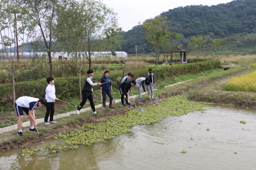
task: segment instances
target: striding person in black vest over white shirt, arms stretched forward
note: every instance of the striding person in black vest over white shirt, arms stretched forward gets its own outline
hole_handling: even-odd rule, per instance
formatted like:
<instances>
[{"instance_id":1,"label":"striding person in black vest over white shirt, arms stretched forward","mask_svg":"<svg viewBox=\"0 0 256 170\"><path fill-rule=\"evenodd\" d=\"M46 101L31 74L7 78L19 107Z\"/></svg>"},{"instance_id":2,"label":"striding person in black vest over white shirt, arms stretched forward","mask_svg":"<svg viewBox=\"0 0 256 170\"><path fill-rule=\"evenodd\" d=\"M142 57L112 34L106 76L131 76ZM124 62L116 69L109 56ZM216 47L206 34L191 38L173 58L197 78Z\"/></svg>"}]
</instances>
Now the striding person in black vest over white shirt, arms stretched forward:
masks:
<instances>
[{"instance_id":1,"label":"striding person in black vest over white shirt, arms stretched forward","mask_svg":"<svg viewBox=\"0 0 256 170\"><path fill-rule=\"evenodd\" d=\"M94 85L101 85L101 83L93 83L93 70L89 69L87 71L87 74L89 75L84 82L84 87L83 87L83 91L82 91L82 102L80 103L79 106L77 106L76 109L76 114L80 114L79 111L81 110L81 108L84 106L85 102L87 101L87 99L90 102L91 108L93 110L93 114L96 114L96 110L95 110L95 105L93 102L93 86Z\"/></svg>"}]
</instances>

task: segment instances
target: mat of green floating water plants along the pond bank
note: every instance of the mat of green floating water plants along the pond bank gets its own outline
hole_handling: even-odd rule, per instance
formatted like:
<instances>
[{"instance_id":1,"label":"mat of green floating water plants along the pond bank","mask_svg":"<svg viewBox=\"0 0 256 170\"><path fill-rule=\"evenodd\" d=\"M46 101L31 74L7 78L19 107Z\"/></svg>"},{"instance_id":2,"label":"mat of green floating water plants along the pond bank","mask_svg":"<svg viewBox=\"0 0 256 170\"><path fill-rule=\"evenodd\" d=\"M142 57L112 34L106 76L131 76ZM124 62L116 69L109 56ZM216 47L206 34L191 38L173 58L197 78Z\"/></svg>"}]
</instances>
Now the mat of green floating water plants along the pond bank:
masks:
<instances>
[{"instance_id":1,"label":"mat of green floating water plants along the pond bank","mask_svg":"<svg viewBox=\"0 0 256 170\"><path fill-rule=\"evenodd\" d=\"M60 134L54 137L54 139L63 138L66 139L62 145L69 145L57 147L55 145L44 145L44 148L49 147L52 149L52 153L59 152L61 150L76 149L78 144L91 145L97 142L106 142L107 139L113 139L115 136L127 133L131 127L137 125L147 125L150 123L157 123L165 119L166 116L181 116L193 111L204 111L203 107L209 107L211 103L191 102L188 101L186 96L174 96L165 99L157 106L145 106L142 110L131 109L125 111L124 116L113 116L109 119L104 119L99 123L90 123L78 127L81 131L68 131L64 134ZM71 145L71 146L70 146ZM33 150L33 149L31 149ZM31 153L44 154L45 149L41 150L23 150L24 156L29 156Z\"/></svg>"}]
</instances>

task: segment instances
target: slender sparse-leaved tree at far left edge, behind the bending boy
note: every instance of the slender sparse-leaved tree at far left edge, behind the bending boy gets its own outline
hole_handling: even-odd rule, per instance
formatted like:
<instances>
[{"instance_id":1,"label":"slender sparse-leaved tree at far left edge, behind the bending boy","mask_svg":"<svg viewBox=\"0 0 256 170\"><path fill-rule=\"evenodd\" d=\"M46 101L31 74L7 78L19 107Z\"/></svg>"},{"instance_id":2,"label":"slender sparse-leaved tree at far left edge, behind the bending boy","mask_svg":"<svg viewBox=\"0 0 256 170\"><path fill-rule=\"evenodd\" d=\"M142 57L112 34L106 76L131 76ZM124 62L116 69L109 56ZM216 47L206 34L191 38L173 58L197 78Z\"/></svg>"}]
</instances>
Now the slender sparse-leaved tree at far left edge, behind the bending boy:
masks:
<instances>
[{"instance_id":1,"label":"slender sparse-leaved tree at far left edge, behind the bending boy","mask_svg":"<svg viewBox=\"0 0 256 170\"><path fill-rule=\"evenodd\" d=\"M19 48L23 49L24 45L24 35L31 31L34 27L34 23L29 22L29 19L24 16L26 9L20 9L17 6L12 5L9 1L2 1L0 6L0 36L2 45L0 62L2 62L3 67L6 72L12 77L12 95L13 95L13 109L15 110L15 77L18 77L21 73L25 71L31 71L35 69L40 61L34 68L26 69L21 68L20 65L23 60L23 50L22 55L19 58ZM19 37L19 39L18 39ZM18 45L18 41L23 42L23 45ZM15 46L14 55L12 55L11 47ZM8 51L10 47L10 53Z\"/></svg>"}]
</instances>

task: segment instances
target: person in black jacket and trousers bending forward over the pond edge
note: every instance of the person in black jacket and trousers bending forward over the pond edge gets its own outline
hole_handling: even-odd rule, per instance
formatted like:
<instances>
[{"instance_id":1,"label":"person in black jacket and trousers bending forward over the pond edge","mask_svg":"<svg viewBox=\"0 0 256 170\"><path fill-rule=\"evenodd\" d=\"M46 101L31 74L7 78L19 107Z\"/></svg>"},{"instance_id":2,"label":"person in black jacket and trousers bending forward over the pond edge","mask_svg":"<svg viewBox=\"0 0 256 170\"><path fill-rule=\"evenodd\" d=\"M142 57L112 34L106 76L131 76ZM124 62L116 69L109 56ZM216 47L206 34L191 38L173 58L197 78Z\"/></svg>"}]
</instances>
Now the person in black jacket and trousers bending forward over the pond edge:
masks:
<instances>
[{"instance_id":1,"label":"person in black jacket and trousers bending forward over the pond edge","mask_svg":"<svg viewBox=\"0 0 256 170\"><path fill-rule=\"evenodd\" d=\"M128 106L131 106L128 102L128 91L131 87L136 85L136 80L124 81L119 85L119 91L121 94L121 102L123 107L125 107L125 101ZM125 100L125 101L124 101Z\"/></svg>"}]
</instances>

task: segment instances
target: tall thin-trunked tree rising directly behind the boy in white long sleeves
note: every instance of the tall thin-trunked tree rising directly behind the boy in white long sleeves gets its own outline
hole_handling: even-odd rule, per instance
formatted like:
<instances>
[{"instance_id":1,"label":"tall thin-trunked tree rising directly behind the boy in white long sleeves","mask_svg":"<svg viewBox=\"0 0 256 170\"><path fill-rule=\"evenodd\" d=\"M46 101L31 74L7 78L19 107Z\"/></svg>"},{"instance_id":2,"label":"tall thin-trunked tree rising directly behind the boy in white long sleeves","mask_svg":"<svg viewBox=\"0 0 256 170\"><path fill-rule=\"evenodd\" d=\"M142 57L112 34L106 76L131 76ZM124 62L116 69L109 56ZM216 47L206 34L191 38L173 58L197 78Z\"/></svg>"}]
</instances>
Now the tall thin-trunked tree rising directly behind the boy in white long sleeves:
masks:
<instances>
[{"instance_id":1,"label":"tall thin-trunked tree rising directly behind the boy in white long sleeves","mask_svg":"<svg viewBox=\"0 0 256 170\"><path fill-rule=\"evenodd\" d=\"M52 52L58 48L58 42L52 29L58 17L58 8L68 6L72 0L12 0L21 9L26 9L26 14L31 22L36 23L35 30L30 34L34 52L46 52L49 59L49 76L52 74Z\"/></svg>"}]
</instances>

